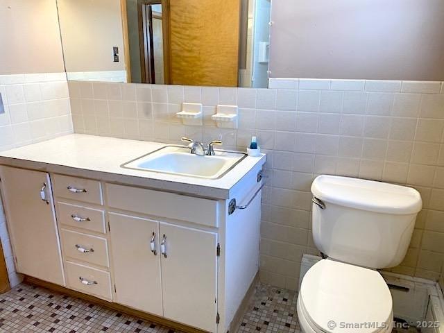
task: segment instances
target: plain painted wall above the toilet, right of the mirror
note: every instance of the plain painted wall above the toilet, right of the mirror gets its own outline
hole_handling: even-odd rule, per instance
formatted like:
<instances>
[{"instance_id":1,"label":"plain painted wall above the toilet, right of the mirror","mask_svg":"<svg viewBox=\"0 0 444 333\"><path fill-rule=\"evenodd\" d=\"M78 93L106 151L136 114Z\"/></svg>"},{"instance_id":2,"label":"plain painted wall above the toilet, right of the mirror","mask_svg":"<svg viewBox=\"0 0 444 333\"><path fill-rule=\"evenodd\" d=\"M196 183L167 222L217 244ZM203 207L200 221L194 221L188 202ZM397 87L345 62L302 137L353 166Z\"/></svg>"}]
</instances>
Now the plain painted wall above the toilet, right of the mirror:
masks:
<instances>
[{"instance_id":1,"label":"plain painted wall above the toilet, right of the mirror","mask_svg":"<svg viewBox=\"0 0 444 333\"><path fill-rule=\"evenodd\" d=\"M271 77L444 79L442 0L273 0Z\"/></svg>"}]
</instances>

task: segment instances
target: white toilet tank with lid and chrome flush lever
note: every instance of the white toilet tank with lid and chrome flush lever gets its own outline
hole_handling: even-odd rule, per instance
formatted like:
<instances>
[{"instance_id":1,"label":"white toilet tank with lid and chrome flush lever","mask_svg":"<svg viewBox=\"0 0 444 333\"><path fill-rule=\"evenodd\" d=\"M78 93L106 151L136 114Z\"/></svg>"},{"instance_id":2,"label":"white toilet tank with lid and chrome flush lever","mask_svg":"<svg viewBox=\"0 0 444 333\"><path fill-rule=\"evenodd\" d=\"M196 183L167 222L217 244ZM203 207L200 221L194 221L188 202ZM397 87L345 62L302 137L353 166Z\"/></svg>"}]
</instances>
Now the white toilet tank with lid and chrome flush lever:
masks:
<instances>
[{"instance_id":1,"label":"white toilet tank with lid and chrome flush lever","mask_svg":"<svg viewBox=\"0 0 444 333\"><path fill-rule=\"evenodd\" d=\"M368 268L402 262L422 207L416 189L323 175L314 180L311 194L313 239L322 253Z\"/></svg>"}]
</instances>

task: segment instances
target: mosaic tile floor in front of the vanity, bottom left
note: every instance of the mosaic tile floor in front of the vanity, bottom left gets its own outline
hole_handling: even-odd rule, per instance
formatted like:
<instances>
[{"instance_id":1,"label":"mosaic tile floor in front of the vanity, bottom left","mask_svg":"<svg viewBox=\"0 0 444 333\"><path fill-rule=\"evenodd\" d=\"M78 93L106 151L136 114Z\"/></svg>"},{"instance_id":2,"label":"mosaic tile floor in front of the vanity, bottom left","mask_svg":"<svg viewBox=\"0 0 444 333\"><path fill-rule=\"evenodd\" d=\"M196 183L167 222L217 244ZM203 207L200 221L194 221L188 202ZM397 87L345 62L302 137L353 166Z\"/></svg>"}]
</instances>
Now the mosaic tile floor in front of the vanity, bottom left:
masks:
<instances>
[{"instance_id":1,"label":"mosaic tile floor in front of the vanity, bottom left","mask_svg":"<svg viewBox=\"0 0 444 333\"><path fill-rule=\"evenodd\" d=\"M180 333L27 284L0 295L0 332Z\"/></svg>"}]
</instances>

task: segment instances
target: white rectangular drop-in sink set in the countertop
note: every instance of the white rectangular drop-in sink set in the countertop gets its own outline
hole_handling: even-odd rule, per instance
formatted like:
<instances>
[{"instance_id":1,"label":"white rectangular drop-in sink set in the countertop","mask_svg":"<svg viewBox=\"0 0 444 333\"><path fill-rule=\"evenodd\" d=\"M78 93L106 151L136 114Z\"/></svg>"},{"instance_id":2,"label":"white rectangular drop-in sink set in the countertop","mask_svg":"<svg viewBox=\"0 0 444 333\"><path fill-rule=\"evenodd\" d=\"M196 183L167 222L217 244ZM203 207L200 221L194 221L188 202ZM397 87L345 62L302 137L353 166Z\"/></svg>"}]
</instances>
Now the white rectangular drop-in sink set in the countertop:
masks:
<instances>
[{"instance_id":1,"label":"white rectangular drop-in sink set in the countertop","mask_svg":"<svg viewBox=\"0 0 444 333\"><path fill-rule=\"evenodd\" d=\"M122 164L121 167L216 179L221 178L246 157L244 153L214 152L216 155L213 156L199 156L190 154L189 148L184 146L165 146L153 153Z\"/></svg>"}]
</instances>

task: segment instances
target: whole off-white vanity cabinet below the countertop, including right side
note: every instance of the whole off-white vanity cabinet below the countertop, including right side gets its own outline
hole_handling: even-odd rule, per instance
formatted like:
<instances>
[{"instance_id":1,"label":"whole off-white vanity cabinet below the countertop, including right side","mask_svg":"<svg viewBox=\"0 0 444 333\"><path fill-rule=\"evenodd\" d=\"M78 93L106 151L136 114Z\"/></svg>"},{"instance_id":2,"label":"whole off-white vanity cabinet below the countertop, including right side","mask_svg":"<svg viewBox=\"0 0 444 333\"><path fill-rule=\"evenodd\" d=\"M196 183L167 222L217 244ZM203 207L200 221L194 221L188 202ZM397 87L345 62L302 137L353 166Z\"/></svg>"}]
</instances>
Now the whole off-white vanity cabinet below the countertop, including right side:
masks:
<instances>
[{"instance_id":1,"label":"whole off-white vanity cabinet below the countertop, including right side","mask_svg":"<svg viewBox=\"0 0 444 333\"><path fill-rule=\"evenodd\" d=\"M0 167L17 271L225 333L258 270L261 169L208 198Z\"/></svg>"}]
</instances>

